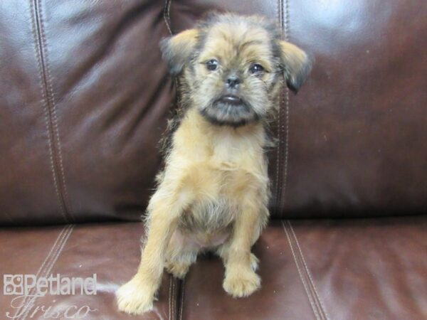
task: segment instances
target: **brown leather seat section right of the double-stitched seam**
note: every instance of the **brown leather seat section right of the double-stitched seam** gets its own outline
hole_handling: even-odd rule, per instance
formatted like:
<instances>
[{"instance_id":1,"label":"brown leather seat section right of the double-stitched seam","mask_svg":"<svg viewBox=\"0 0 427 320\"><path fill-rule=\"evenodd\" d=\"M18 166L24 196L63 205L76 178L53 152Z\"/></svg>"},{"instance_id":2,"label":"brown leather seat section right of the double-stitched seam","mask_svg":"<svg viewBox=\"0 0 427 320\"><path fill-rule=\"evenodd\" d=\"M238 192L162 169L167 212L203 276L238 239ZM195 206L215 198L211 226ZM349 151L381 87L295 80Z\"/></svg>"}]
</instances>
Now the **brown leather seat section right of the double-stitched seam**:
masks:
<instances>
[{"instance_id":1,"label":"brown leather seat section right of the double-stitched seam","mask_svg":"<svg viewBox=\"0 0 427 320\"><path fill-rule=\"evenodd\" d=\"M427 318L427 216L285 225L331 319Z\"/></svg>"}]
</instances>

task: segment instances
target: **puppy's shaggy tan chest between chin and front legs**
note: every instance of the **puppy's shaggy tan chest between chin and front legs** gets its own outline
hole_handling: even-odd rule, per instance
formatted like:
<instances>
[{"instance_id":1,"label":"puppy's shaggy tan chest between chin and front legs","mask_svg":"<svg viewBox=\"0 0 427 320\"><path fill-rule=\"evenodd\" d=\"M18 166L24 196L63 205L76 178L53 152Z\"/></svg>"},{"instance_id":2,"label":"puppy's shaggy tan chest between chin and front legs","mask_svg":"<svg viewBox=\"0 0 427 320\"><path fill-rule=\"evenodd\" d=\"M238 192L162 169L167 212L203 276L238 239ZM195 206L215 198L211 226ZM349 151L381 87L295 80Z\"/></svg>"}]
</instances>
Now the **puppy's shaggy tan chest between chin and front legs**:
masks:
<instances>
[{"instance_id":1,"label":"puppy's shaggy tan chest between chin and front legs","mask_svg":"<svg viewBox=\"0 0 427 320\"><path fill-rule=\"evenodd\" d=\"M174 167L189 199L179 227L209 247L228 237L242 202L264 183L263 139L226 128L201 134L195 127L181 127L175 141Z\"/></svg>"}]
</instances>

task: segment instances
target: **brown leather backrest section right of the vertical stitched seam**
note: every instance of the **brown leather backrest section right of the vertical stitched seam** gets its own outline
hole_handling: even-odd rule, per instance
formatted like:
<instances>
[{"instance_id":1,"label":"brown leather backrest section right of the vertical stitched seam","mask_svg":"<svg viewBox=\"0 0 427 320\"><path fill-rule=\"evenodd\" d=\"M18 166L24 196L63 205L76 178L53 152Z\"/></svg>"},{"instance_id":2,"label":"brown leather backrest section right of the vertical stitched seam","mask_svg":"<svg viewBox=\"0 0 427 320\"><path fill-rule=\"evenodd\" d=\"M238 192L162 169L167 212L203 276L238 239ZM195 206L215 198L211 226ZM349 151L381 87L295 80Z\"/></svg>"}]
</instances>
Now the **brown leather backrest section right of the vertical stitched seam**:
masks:
<instances>
[{"instance_id":1,"label":"brown leather backrest section right of the vertical stitched seam","mask_svg":"<svg viewBox=\"0 0 427 320\"><path fill-rule=\"evenodd\" d=\"M288 7L290 41L316 62L300 95L290 95L280 212L426 213L426 2Z\"/></svg>"}]
</instances>

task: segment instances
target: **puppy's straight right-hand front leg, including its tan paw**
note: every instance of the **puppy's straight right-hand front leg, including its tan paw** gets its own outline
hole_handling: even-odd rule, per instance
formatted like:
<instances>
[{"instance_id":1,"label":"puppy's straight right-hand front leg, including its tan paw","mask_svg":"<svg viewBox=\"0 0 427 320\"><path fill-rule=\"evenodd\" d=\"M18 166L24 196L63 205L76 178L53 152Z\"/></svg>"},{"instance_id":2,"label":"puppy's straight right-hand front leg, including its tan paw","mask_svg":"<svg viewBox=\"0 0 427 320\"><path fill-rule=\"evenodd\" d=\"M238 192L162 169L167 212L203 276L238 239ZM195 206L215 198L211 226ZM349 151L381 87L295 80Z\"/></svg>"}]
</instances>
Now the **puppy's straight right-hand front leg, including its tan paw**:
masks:
<instances>
[{"instance_id":1,"label":"puppy's straight right-hand front leg, including its tan paw","mask_svg":"<svg viewBox=\"0 0 427 320\"><path fill-rule=\"evenodd\" d=\"M258 259L251 247L262 229L261 212L251 201L243 203L231 239L220 253L226 267L223 288L233 297L247 297L260 288L260 277L255 273Z\"/></svg>"}]
</instances>

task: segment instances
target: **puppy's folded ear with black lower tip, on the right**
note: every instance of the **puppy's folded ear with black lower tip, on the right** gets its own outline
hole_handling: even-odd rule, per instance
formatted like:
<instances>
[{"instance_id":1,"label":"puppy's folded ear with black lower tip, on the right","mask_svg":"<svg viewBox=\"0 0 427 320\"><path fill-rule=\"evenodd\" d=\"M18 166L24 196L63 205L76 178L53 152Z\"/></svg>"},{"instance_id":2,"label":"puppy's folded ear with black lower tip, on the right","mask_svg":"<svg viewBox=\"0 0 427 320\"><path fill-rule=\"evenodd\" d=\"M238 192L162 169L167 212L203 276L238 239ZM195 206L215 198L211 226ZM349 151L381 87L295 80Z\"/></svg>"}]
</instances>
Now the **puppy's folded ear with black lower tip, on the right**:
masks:
<instances>
[{"instance_id":1,"label":"puppy's folded ear with black lower tip, on the right","mask_svg":"<svg viewBox=\"0 0 427 320\"><path fill-rule=\"evenodd\" d=\"M286 41L279 41L280 63L285 73L286 84L297 93L312 68L312 60L307 53Z\"/></svg>"}]
</instances>

